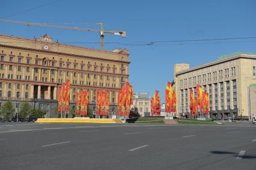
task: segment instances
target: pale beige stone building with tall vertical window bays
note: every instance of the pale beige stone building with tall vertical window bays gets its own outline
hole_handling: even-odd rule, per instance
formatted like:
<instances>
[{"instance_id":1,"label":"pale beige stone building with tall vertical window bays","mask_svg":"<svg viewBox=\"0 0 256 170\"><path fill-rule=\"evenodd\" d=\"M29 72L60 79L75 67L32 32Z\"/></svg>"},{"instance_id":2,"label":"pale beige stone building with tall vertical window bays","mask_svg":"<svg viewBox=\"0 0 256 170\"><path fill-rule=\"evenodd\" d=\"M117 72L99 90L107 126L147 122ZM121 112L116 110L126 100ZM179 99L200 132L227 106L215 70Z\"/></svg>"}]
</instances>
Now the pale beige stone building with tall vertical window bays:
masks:
<instances>
[{"instance_id":1,"label":"pale beige stone building with tall vertical window bays","mask_svg":"<svg viewBox=\"0 0 256 170\"><path fill-rule=\"evenodd\" d=\"M188 115L189 90L199 83L209 93L210 117L251 119L255 114L256 55L235 53L216 61L189 68L175 64L174 88L177 93L177 117ZM251 104L250 104L251 103Z\"/></svg>"}]
</instances>

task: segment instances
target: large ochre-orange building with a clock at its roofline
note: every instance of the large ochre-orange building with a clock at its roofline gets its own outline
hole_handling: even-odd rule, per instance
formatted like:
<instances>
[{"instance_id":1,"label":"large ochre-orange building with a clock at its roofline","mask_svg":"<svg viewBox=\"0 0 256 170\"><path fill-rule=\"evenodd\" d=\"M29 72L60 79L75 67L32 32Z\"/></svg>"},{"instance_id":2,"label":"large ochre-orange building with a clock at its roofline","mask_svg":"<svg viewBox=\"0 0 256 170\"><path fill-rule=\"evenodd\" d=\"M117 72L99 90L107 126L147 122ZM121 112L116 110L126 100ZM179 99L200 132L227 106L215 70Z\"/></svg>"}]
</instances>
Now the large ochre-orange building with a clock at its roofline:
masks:
<instances>
[{"instance_id":1,"label":"large ochre-orange building with a clock at its roofline","mask_svg":"<svg viewBox=\"0 0 256 170\"><path fill-rule=\"evenodd\" d=\"M49 35L28 39L0 35L0 103L8 100L19 108L29 102L46 117L56 117L58 87L70 80L70 109L76 92L89 91L95 111L97 90L109 91L111 115L117 111L117 91L129 77L129 51L89 49L54 42Z\"/></svg>"}]
</instances>

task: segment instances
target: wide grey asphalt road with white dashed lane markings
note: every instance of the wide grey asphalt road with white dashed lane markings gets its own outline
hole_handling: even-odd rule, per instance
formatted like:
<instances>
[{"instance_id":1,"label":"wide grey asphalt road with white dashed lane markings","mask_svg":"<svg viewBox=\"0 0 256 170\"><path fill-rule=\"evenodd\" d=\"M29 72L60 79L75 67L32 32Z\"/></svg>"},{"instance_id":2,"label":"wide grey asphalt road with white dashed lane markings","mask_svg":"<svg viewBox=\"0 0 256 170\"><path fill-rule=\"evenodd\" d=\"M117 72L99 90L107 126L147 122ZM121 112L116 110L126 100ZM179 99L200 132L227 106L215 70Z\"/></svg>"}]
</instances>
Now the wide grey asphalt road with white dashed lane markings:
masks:
<instances>
[{"instance_id":1,"label":"wide grey asphalt road with white dashed lane markings","mask_svg":"<svg viewBox=\"0 0 256 170\"><path fill-rule=\"evenodd\" d=\"M0 169L256 169L256 125L0 123Z\"/></svg>"}]
</instances>

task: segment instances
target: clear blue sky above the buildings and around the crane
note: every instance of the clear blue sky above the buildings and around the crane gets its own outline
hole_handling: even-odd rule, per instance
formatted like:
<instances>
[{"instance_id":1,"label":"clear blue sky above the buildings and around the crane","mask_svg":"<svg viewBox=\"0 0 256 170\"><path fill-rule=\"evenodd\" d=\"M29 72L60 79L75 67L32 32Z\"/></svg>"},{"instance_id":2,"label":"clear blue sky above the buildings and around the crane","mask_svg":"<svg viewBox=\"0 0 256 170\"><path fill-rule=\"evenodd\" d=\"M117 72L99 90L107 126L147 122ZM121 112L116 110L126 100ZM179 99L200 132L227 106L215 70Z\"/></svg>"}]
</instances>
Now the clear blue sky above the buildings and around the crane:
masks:
<instances>
[{"instance_id":1,"label":"clear blue sky above the buildings and around the crane","mask_svg":"<svg viewBox=\"0 0 256 170\"><path fill-rule=\"evenodd\" d=\"M53 3L52 3L53 2ZM1 1L0 18L40 23L76 23L67 26L127 31L127 37L106 35L106 42L144 44L151 41L200 40L256 37L256 1ZM87 24L81 24L87 23ZM45 33L59 42L99 42L97 32L26 27L0 22L0 34L34 38ZM167 81L173 78L173 65L186 62L190 67L214 61L234 52L256 52L256 38L156 43L153 46L105 44L105 49L130 50L130 78L135 91L151 96L160 91L164 102ZM99 44L77 44L98 48Z\"/></svg>"}]
</instances>

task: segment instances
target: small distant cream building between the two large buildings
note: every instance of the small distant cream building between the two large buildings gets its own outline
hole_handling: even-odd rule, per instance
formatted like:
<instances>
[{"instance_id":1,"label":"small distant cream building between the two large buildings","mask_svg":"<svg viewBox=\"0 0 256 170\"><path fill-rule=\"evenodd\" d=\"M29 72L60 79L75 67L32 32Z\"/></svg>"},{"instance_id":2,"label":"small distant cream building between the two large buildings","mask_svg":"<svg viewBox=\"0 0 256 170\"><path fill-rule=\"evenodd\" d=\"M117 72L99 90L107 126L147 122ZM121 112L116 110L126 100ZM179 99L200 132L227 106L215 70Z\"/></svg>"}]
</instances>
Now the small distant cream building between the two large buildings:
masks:
<instances>
[{"instance_id":1,"label":"small distant cream building between the two large buildings","mask_svg":"<svg viewBox=\"0 0 256 170\"><path fill-rule=\"evenodd\" d=\"M151 97L148 93L133 94L133 105L131 108L137 108L141 117L150 116Z\"/></svg>"}]
</instances>

